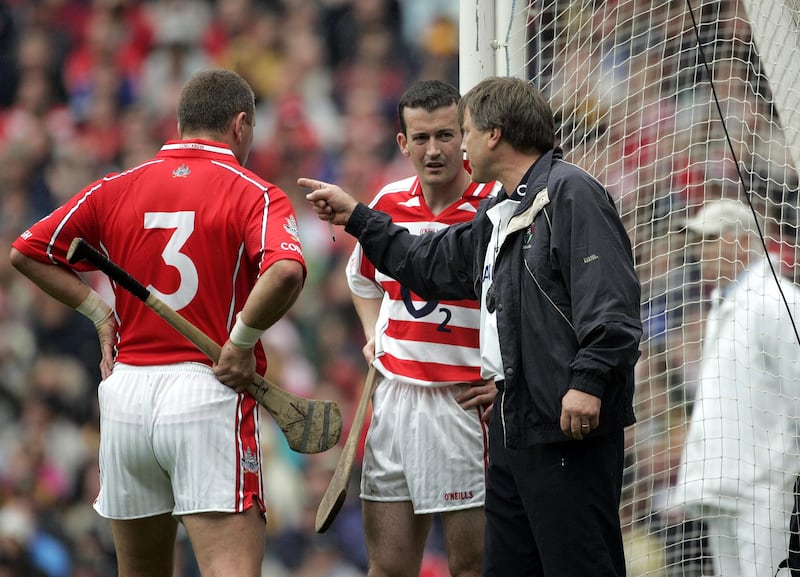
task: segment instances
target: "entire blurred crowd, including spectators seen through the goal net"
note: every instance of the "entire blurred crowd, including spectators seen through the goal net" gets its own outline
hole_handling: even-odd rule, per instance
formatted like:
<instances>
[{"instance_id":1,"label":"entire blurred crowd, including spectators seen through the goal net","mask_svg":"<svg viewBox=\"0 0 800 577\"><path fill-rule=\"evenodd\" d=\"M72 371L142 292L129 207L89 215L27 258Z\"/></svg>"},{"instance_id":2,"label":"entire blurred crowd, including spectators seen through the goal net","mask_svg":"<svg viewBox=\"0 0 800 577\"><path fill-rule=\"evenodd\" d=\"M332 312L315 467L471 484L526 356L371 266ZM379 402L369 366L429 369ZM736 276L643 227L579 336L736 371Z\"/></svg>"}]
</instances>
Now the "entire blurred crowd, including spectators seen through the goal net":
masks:
<instances>
[{"instance_id":1,"label":"entire blurred crowd, including spectators seen through the goal net","mask_svg":"<svg viewBox=\"0 0 800 577\"><path fill-rule=\"evenodd\" d=\"M549 74L562 90L548 91L569 128L562 130L568 158L609 187L634 241L647 332L623 515L626 530L644 527L636 547L649 547L656 532L650 524L659 524L652 554L664 557L653 562L661 567L668 563L664 544L696 530L676 523L664 502L702 321L702 295L673 228L702 198L738 191L709 91L697 88L698 56L690 52L695 60L685 61L686 13L680 19L670 13L683 3L662 4L663 19L630 19L627 45L589 57L554 51ZM716 4L711 19L721 24L703 31L733 55L749 42L742 19L725 13L738 4ZM192 73L210 66L236 70L257 97L248 167L293 200L309 265L300 300L264 337L267 377L297 394L337 400L347 426L366 374L343 272L354 241L341 230L331 238L295 181L335 182L369 201L382 183L410 175L395 143L396 103L417 78L458 86L457 22L458 2L450 0L0 0L2 244L8 247L93 179L136 165L174 138L177 95ZM595 29L602 36L603 27ZM677 39L671 48L655 38L660 33L662 40ZM764 89L753 78L752 60L737 61L718 68L716 80L727 87L726 111L738 122L740 158L766 201L770 184L780 193L784 182L758 166L770 158L761 146L769 139L752 135L771 132L772 119L763 112ZM650 82L649 73L666 80ZM602 92L610 80L624 88L624 97ZM639 112L632 122L627 111L634 104ZM764 119L766 126L757 125ZM109 577L115 574L110 532L92 509L96 334L85 318L13 273L7 254L0 250L0 577ZM110 300L100 275L87 279ZM338 453L293 453L268 415L263 422L264 574L364 575L358 472L334 525L315 534L314 514ZM176 575L195 577L188 542L180 543ZM423 574L447 574L437 532Z\"/></svg>"}]
</instances>

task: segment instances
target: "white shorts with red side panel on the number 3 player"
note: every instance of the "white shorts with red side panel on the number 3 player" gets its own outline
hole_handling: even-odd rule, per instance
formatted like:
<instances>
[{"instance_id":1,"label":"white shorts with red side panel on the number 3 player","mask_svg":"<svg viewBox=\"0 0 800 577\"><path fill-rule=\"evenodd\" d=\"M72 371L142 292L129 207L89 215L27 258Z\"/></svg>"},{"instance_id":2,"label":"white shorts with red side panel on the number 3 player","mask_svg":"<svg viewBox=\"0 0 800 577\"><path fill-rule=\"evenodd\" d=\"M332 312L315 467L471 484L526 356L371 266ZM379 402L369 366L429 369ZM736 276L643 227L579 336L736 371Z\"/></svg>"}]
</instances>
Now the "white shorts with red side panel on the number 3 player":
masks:
<instances>
[{"instance_id":1,"label":"white shorts with red side panel on the number 3 player","mask_svg":"<svg viewBox=\"0 0 800 577\"><path fill-rule=\"evenodd\" d=\"M117 364L98 395L101 516L266 510L257 404L210 367Z\"/></svg>"}]
</instances>

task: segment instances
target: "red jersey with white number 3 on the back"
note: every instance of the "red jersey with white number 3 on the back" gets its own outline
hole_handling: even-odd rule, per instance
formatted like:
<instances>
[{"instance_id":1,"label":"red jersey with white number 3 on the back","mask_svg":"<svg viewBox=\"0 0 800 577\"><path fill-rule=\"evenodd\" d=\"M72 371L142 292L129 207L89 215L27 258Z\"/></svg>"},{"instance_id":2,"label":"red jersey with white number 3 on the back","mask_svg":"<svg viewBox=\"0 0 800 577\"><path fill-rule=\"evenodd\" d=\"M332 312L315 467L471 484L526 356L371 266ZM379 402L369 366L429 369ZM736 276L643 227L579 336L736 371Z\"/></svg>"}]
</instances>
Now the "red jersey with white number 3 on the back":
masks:
<instances>
[{"instance_id":1,"label":"red jersey with white number 3 on the back","mask_svg":"<svg viewBox=\"0 0 800 577\"><path fill-rule=\"evenodd\" d=\"M273 263L305 266L286 194L242 167L225 145L167 142L151 160L90 184L25 231L13 246L69 265L75 237L104 252L217 343L224 343L250 290ZM114 287L118 362L211 364L127 291ZM258 370L266 369L257 347Z\"/></svg>"}]
</instances>

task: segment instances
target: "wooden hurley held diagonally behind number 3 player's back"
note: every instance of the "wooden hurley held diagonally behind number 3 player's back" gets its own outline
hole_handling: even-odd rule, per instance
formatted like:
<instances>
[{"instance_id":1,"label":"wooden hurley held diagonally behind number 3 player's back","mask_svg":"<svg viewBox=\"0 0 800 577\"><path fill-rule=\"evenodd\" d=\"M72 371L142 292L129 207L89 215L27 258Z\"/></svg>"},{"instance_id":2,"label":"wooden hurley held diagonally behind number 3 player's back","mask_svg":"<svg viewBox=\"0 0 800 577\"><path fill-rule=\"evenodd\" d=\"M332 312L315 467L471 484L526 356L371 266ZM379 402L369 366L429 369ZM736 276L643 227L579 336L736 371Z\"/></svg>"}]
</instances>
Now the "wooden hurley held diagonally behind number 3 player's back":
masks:
<instances>
[{"instance_id":1,"label":"wooden hurley held diagonally behind number 3 player's back","mask_svg":"<svg viewBox=\"0 0 800 577\"><path fill-rule=\"evenodd\" d=\"M119 286L143 301L209 359L214 362L219 359L220 345L164 301L150 294L139 281L82 238L75 238L72 241L67 252L67 260L73 264L87 260ZM298 397L258 375L247 388L247 392L272 415L292 450L298 453L321 453L339 442L342 434L342 415L334 401L316 401Z\"/></svg>"}]
</instances>

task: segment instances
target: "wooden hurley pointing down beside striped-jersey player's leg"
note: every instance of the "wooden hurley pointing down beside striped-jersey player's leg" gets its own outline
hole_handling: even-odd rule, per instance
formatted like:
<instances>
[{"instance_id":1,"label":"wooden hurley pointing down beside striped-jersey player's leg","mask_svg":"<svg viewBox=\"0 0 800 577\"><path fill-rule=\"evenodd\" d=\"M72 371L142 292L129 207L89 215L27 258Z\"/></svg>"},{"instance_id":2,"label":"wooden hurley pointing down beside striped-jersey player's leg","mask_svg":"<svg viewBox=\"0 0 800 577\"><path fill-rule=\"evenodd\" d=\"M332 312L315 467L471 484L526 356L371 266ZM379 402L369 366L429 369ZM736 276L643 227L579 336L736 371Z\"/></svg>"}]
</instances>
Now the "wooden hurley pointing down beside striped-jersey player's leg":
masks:
<instances>
[{"instance_id":1,"label":"wooden hurley pointing down beside striped-jersey player's leg","mask_svg":"<svg viewBox=\"0 0 800 577\"><path fill-rule=\"evenodd\" d=\"M361 431L364 430L367 408L369 407L370 399L372 399L372 389L374 387L375 367L371 365L367 373L367 379L364 382L364 388L361 389L361 397L358 399L358 406L353 416L353 424L350 426L350 432L347 433L347 440L344 442L344 448L339 456L339 462L336 464L336 470L333 472L333 477L328 483L328 488L322 496L319 507L317 507L317 533L324 533L328 530L328 527L331 526L331 523L339 513L339 509L344 505L344 499L347 497L347 487L350 484L350 473L356 460L356 450L358 449L358 442L361 440Z\"/></svg>"}]
</instances>

